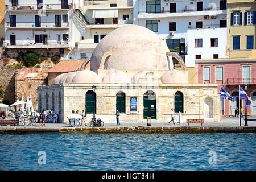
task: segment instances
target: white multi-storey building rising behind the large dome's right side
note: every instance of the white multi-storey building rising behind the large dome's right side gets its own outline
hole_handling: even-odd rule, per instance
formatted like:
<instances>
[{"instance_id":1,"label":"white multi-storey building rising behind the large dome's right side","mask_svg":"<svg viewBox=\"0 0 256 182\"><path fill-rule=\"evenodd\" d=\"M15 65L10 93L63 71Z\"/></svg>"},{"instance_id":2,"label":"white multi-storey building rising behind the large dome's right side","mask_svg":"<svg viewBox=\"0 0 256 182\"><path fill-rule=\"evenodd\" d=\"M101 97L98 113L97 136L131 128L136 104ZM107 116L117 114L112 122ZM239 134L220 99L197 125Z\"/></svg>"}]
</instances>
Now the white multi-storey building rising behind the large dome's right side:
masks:
<instances>
[{"instance_id":1,"label":"white multi-storey building rising behind the large dome's right side","mask_svg":"<svg viewBox=\"0 0 256 182\"><path fill-rule=\"evenodd\" d=\"M195 66L196 55L226 57L225 0L134 0L134 24L156 32L171 51L179 49L187 67ZM210 38L221 44L208 49ZM195 46L195 39L204 39L203 48Z\"/></svg>"}]
</instances>

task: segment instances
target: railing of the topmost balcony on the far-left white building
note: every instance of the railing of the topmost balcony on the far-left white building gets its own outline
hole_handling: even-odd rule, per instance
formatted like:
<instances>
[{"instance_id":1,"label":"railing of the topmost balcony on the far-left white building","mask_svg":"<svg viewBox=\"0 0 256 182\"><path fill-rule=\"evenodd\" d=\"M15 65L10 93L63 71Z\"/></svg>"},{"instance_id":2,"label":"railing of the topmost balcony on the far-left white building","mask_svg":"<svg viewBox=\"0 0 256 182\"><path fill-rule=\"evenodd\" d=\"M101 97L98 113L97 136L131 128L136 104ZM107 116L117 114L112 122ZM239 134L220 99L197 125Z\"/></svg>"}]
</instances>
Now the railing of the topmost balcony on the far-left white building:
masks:
<instances>
[{"instance_id":1,"label":"railing of the topmost balcony on the far-left white building","mask_svg":"<svg viewBox=\"0 0 256 182\"><path fill-rule=\"evenodd\" d=\"M61 5L61 4L42 4L42 5L5 5L5 10L68 10L72 9L72 5Z\"/></svg>"}]
</instances>

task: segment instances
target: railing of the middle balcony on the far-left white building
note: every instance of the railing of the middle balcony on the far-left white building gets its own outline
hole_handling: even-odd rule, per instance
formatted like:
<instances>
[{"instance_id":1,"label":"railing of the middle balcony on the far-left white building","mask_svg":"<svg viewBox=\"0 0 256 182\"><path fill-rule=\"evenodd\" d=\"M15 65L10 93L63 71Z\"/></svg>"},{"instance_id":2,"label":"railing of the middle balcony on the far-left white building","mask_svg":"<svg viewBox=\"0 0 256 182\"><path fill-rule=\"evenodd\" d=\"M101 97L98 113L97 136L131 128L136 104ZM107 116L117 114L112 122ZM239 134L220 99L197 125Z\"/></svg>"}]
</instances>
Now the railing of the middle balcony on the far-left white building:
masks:
<instances>
[{"instance_id":1,"label":"railing of the middle balcony on the far-left white building","mask_svg":"<svg viewBox=\"0 0 256 182\"><path fill-rule=\"evenodd\" d=\"M57 26L56 26L57 25ZM7 22L7 27L12 28L58 28L58 27L64 27L68 28L69 24L68 22L61 22L61 23L55 23L55 22L41 22L40 24L36 24L35 22L16 22L15 24L10 24L10 22Z\"/></svg>"}]
</instances>

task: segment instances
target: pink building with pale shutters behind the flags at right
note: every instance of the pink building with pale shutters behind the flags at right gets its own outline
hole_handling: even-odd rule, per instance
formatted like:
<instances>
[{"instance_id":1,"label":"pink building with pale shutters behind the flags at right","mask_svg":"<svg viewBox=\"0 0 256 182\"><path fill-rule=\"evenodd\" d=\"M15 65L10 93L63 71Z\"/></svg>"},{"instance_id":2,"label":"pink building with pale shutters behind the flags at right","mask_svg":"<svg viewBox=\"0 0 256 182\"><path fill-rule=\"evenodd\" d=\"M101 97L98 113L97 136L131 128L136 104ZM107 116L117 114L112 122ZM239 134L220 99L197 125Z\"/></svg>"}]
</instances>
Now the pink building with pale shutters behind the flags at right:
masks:
<instances>
[{"instance_id":1,"label":"pink building with pale shutters behind the flags at right","mask_svg":"<svg viewBox=\"0 0 256 182\"><path fill-rule=\"evenodd\" d=\"M256 116L256 59L200 59L196 60L198 83L218 84L234 97L234 102L222 100L222 116L234 115L236 107L245 109L245 101L239 103L238 87L245 90L250 97L251 106L247 107L249 116ZM220 91L219 91L220 94Z\"/></svg>"}]
</instances>

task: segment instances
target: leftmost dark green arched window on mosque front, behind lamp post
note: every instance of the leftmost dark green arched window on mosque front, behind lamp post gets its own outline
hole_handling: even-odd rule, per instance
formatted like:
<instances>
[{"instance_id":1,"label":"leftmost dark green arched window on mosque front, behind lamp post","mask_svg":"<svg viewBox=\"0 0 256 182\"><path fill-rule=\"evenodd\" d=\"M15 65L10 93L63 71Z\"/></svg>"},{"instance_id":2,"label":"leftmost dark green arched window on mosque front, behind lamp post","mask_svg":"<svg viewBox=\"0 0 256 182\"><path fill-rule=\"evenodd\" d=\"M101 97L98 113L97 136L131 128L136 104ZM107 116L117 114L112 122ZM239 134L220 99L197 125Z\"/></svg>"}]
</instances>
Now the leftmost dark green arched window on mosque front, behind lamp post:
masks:
<instances>
[{"instance_id":1,"label":"leftmost dark green arched window on mosque front, behind lamp post","mask_svg":"<svg viewBox=\"0 0 256 182\"><path fill-rule=\"evenodd\" d=\"M88 114L93 114L93 110L96 113L96 93L93 92L93 90L89 90L85 95L85 112Z\"/></svg>"}]
</instances>

